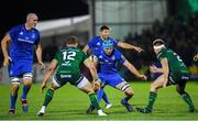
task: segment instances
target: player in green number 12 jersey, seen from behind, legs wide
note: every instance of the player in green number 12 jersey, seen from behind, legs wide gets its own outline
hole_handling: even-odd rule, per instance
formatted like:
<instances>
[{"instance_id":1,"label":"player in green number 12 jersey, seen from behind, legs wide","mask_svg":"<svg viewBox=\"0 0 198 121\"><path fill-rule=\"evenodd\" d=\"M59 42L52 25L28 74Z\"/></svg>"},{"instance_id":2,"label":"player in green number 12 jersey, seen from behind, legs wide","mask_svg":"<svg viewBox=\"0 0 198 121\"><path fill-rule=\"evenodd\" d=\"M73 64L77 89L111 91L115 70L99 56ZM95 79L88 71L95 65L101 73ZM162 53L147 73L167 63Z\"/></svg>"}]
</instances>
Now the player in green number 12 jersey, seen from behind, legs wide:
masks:
<instances>
[{"instance_id":1,"label":"player in green number 12 jersey, seen from behind, legs wide","mask_svg":"<svg viewBox=\"0 0 198 121\"><path fill-rule=\"evenodd\" d=\"M91 103L95 105L98 110L98 116L107 116L102 112L98 103L94 87L88 81L88 79L80 74L79 66L84 63L89 68L94 82L98 79L97 70L94 66L94 63L88 59L87 55L81 50L79 50L77 45L77 37L68 37L66 40L66 47L56 53L54 59L52 61L41 86L42 91L46 87L50 77L53 75L56 68L57 70L55 76L53 77L51 88L45 95L43 106L37 113L38 117L42 117L45 113L46 107L51 102L54 91L63 87L66 82L70 82L72 85L89 95Z\"/></svg>"}]
</instances>

